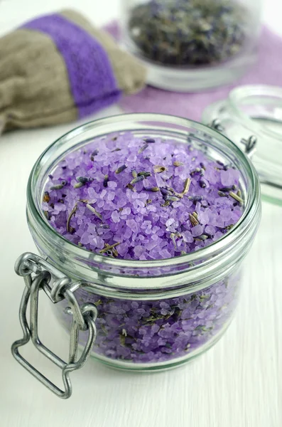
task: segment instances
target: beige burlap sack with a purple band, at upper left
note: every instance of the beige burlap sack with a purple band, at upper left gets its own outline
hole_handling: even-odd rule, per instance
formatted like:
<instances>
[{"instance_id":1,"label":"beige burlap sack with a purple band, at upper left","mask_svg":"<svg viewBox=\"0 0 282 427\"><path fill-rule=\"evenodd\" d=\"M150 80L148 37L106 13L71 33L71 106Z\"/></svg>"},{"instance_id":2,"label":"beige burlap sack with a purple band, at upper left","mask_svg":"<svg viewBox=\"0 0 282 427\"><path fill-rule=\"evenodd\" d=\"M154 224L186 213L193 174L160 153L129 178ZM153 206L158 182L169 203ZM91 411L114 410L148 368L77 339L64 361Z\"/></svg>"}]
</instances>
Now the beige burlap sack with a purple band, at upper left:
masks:
<instances>
[{"instance_id":1,"label":"beige burlap sack with a purple band, at upper left","mask_svg":"<svg viewBox=\"0 0 282 427\"><path fill-rule=\"evenodd\" d=\"M146 70L72 10L0 39L0 129L70 122L145 85Z\"/></svg>"}]
</instances>

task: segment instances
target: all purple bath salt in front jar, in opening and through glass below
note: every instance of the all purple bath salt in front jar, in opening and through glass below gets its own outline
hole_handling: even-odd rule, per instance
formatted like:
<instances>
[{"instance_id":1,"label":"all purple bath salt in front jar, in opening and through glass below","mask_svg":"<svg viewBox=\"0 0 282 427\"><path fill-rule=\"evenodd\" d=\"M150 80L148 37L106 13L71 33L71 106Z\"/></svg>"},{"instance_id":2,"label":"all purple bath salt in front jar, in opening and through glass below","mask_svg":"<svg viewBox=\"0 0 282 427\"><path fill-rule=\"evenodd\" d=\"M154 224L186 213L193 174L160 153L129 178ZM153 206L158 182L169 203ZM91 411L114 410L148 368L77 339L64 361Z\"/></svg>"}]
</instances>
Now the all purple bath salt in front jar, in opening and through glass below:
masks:
<instances>
[{"instance_id":1,"label":"all purple bath salt in front jar, in opening and through glass below","mask_svg":"<svg viewBox=\"0 0 282 427\"><path fill-rule=\"evenodd\" d=\"M222 238L242 215L239 172L173 139L95 139L58 163L43 211L72 243L106 257L154 260L185 255ZM121 300L77 290L97 306L94 353L131 363L188 357L224 331L239 273L205 289L159 300ZM61 304L66 304L62 302ZM70 317L63 315L70 327Z\"/></svg>"}]
</instances>

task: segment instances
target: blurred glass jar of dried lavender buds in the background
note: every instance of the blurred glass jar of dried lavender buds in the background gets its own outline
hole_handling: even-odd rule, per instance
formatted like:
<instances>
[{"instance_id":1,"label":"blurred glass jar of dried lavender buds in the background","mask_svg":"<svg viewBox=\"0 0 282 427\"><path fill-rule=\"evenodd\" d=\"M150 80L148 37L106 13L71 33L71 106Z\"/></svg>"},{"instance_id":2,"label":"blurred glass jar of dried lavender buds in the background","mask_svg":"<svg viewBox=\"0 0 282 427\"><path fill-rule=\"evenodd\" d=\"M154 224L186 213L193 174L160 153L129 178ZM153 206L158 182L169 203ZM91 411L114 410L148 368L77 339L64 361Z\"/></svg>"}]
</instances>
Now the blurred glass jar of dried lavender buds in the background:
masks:
<instances>
[{"instance_id":1,"label":"blurred glass jar of dried lavender buds in the background","mask_svg":"<svg viewBox=\"0 0 282 427\"><path fill-rule=\"evenodd\" d=\"M121 24L149 84L195 92L231 83L254 64L261 0L123 0Z\"/></svg>"}]
</instances>

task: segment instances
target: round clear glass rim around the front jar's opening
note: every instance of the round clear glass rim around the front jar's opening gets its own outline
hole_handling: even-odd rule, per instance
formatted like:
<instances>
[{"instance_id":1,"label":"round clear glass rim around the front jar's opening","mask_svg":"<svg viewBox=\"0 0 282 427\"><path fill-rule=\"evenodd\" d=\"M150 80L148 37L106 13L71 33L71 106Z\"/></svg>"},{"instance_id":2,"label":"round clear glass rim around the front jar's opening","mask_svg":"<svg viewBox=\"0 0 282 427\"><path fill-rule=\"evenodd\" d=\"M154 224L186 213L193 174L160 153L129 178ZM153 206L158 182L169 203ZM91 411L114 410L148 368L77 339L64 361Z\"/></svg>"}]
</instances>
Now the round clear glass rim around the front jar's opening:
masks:
<instances>
[{"instance_id":1,"label":"round clear glass rim around the front jar's opening","mask_svg":"<svg viewBox=\"0 0 282 427\"><path fill-rule=\"evenodd\" d=\"M99 255L98 253L92 253L90 251L87 251L83 248L80 248L79 246L75 245L74 243L67 241L66 238L61 236L55 229L50 226L46 218L43 216L43 211L40 211L38 209L38 205L36 204L36 191L38 191L38 188L36 188L36 179L38 176L38 169L42 167L46 162L48 162L48 156L50 155L50 152L54 151L56 149L56 146L58 144L66 144L67 142L70 142L72 137L75 137L77 135L81 135L89 130L93 130L97 127L103 126L109 126L112 123L115 125L118 124L119 126L122 126L123 120L126 122L142 122L146 123L146 129L148 130L148 122L168 122L169 125L172 126L179 126L184 127L186 130L188 130L189 127L192 127L194 130L197 130L201 132L203 135L209 135L210 137L213 137L216 142L217 146L219 146L219 142L222 147L228 148L232 154L236 155L237 158L240 159L240 162L242 163L242 167L244 167L244 170L249 177L249 184L251 184L251 189L248 189L248 197L246 201L246 206L243 211L242 217L240 220L235 224L235 226L232 228L231 231L229 231L227 234L225 234L222 238L220 238L218 241L215 241L209 246L205 246L204 248L201 248L198 251L188 253L186 255L181 255L174 258L165 258L161 260L125 260L125 259L119 259L119 258L108 258L103 255ZM122 127L120 128L120 132L122 131ZM175 130L176 132L176 130ZM111 133L111 132L108 132ZM92 137L94 139L94 137ZM87 140L87 139L86 139ZM210 143L210 142L209 142ZM211 143L210 143L211 144ZM75 145L74 145L75 147ZM42 190L42 189L41 189ZM202 125L198 122L194 122L192 120L185 119L184 117L177 117L173 115L161 115L156 113L134 113L134 114L122 114L122 115L115 115L111 117L102 118L99 120L94 120L92 122L87 122L85 125L81 125L79 127L76 127L75 129L71 130L70 132L67 132L62 137L58 138L53 144L50 144L50 146L45 149L43 154L40 155L38 160L36 161L36 164L34 164L33 169L31 171L30 177L28 179L28 189L27 189L27 196L28 196L28 211L30 211L31 216L33 217L34 221L38 223L40 227L40 231L48 233L48 236L53 237L54 239L59 239L59 241L67 247L67 250L70 251L72 255L74 255L77 258L80 258L80 260L89 260L89 255L91 254L91 259L94 262L100 263L100 265L104 265L105 268L136 268L136 269L143 269L143 268L161 268L161 267L177 267L178 265L186 265L188 263L197 263L197 261L201 261L202 258L207 258L209 260L212 260L212 258L215 257L215 255L218 255L218 253L221 253L224 248L227 246L234 245L238 238L242 236L242 233L244 233L250 226L250 223L252 223L252 219L256 214L256 211L259 209L259 179L256 174L256 171L249 161L249 159L244 155L241 149L237 147L234 142L229 140L227 137L222 135L221 133L217 132L216 130L212 130L210 127L207 127L205 125ZM257 203L255 203L257 202ZM252 214L250 215L252 211ZM88 258L87 258L88 257ZM196 265L195 268L199 266Z\"/></svg>"}]
</instances>

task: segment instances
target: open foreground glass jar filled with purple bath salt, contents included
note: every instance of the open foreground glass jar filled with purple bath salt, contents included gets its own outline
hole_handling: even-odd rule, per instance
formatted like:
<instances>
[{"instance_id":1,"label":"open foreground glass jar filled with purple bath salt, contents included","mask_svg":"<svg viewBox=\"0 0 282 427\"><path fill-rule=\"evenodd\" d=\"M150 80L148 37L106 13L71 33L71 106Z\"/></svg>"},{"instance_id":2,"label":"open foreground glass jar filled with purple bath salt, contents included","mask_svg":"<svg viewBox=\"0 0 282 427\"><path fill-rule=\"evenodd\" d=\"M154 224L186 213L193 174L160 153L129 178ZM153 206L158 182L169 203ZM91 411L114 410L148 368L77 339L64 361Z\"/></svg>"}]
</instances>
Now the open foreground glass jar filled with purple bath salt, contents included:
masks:
<instances>
[{"instance_id":1,"label":"open foreground glass jar filled with purple bath salt, contents included","mask_svg":"<svg viewBox=\"0 0 282 427\"><path fill-rule=\"evenodd\" d=\"M31 172L27 212L40 255L16 270L36 273L33 282L45 271L41 286L72 337L92 307L94 358L168 369L212 347L232 320L259 226L259 179L205 125L120 115L50 145ZM77 328L85 347L89 331Z\"/></svg>"}]
</instances>

